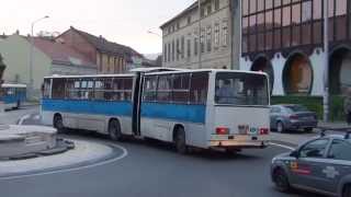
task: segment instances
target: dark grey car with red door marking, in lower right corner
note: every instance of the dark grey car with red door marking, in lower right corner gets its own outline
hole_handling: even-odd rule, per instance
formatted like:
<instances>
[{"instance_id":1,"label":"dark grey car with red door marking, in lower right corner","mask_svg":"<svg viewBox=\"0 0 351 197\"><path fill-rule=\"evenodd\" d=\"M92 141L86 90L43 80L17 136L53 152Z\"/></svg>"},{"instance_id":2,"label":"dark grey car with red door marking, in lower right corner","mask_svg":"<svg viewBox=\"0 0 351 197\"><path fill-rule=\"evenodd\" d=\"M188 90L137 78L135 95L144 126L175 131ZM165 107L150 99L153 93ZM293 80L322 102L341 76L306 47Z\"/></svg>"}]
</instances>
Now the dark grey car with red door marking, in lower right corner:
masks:
<instances>
[{"instance_id":1,"label":"dark grey car with red door marking, in lower right corner","mask_svg":"<svg viewBox=\"0 0 351 197\"><path fill-rule=\"evenodd\" d=\"M271 176L276 188L287 192L293 187L351 197L350 134L321 135L292 152L275 157Z\"/></svg>"}]
</instances>

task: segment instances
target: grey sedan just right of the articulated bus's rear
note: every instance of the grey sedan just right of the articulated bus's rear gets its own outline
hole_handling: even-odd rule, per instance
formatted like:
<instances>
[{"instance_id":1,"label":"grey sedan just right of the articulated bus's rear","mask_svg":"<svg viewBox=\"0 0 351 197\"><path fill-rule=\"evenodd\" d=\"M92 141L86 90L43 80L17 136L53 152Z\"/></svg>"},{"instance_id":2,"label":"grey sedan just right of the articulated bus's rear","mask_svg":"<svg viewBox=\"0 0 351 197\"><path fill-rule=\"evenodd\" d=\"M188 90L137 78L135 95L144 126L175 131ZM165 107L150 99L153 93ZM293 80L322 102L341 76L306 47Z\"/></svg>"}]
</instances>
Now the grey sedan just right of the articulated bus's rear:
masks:
<instances>
[{"instance_id":1,"label":"grey sedan just right of the articulated bus's rear","mask_svg":"<svg viewBox=\"0 0 351 197\"><path fill-rule=\"evenodd\" d=\"M270 116L271 129L278 132L299 129L310 132L318 124L317 114L303 105L272 105Z\"/></svg>"}]
</instances>

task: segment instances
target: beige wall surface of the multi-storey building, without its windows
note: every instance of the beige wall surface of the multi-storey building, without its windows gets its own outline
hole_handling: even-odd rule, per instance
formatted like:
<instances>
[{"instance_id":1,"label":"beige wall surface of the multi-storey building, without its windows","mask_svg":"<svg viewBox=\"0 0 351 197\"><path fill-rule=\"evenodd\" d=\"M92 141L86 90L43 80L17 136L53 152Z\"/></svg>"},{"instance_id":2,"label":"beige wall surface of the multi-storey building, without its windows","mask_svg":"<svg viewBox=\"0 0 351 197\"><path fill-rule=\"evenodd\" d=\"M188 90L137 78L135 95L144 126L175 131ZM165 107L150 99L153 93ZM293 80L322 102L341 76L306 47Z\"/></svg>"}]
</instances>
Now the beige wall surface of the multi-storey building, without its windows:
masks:
<instances>
[{"instance_id":1,"label":"beige wall surface of the multi-storey building, without its windows","mask_svg":"<svg viewBox=\"0 0 351 197\"><path fill-rule=\"evenodd\" d=\"M219 0L219 9L214 11L214 1L207 1L207 3L203 4L203 8L207 8L208 3L212 5L212 13L210 15L205 15L201 20L201 27L205 30L204 42L205 42L205 53L201 54L201 62L202 68L231 68L237 69L238 66L236 63L231 65L231 16L230 16L230 8L229 8L229 0ZM207 9L205 9L206 11ZM188 16L191 16L191 23L188 24ZM177 23L180 24L180 28L177 30ZM216 45L215 43L215 24L219 25L219 43ZM226 25L225 25L226 24ZM169 33L169 26L176 26L174 32ZM224 45L224 26L227 26L227 44ZM207 51L207 27L211 27L211 42L212 42L212 49ZM163 67L178 67L178 68L191 68L197 69L200 68L199 63L199 53L200 48L197 47L197 55L194 55L194 38L197 37L199 39L199 10L197 8L191 11L191 13L184 14L183 16L177 19L172 23L168 24L163 27L163 56L165 54L165 44L171 44L174 40L174 48L177 48L177 39L180 42L181 48L181 37L184 36L184 58L177 60L177 55L174 55L174 61L167 60L165 62L165 58L162 60ZM188 48L186 48L186 40L191 40L191 57L188 58ZM237 53L237 51L235 51ZM172 53L171 53L172 54ZM171 55L172 57L172 55Z\"/></svg>"}]
</instances>

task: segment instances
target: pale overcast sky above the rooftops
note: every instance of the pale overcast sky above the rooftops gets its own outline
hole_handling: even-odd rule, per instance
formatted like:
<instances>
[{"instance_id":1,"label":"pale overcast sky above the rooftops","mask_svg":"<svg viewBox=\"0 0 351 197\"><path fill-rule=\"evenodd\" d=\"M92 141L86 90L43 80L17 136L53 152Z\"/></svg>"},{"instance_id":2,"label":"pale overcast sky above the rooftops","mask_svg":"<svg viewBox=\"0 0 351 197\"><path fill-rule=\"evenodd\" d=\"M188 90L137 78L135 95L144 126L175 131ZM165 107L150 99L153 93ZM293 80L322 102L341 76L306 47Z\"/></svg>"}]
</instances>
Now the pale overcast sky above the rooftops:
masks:
<instances>
[{"instance_id":1,"label":"pale overcast sky above the rooftops","mask_svg":"<svg viewBox=\"0 0 351 197\"><path fill-rule=\"evenodd\" d=\"M1 2L0 34L59 32L70 26L131 46L141 54L161 53L159 26L195 0L10 0Z\"/></svg>"}]
</instances>

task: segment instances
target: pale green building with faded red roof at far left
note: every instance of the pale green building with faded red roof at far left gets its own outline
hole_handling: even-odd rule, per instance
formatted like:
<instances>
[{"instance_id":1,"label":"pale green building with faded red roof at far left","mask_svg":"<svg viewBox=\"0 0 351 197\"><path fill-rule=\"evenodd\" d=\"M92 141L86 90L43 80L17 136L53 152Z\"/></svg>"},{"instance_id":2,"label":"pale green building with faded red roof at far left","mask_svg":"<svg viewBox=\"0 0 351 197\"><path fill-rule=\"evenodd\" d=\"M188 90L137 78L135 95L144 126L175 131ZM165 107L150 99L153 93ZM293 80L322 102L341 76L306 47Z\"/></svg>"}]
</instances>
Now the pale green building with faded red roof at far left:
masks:
<instances>
[{"instance_id":1,"label":"pale green building with faded red roof at far left","mask_svg":"<svg viewBox=\"0 0 351 197\"><path fill-rule=\"evenodd\" d=\"M30 84L29 37L13 34L0 42L0 55L7 69L3 80L12 83ZM52 74L94 74L97 66L75 49L54 40L34 39L33 86L34 100L41 96L44 77Z\"/></svg>"}]
</instances>

